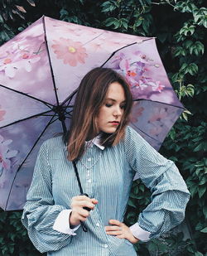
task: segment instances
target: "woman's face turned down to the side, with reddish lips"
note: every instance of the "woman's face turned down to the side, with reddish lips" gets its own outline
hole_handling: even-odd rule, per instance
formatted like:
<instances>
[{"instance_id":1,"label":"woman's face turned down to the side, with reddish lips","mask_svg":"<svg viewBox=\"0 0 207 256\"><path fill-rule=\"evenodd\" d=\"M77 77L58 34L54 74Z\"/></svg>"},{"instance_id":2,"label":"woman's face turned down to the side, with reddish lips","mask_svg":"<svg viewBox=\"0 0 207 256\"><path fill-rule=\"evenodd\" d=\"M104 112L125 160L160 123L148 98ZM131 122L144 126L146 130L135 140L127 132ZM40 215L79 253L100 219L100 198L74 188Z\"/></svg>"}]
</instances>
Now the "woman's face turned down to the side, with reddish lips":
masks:
<instances>
[{"instance_id":1,"label":"woman's face turned down to the side, with reddish lips","mask_svg":"<svg viewBox=\"0 0 207 256\"><path fill-rule=\"evenodd\" d=\"M109 85L106 98L104 99L103 106L99 110L97 119L99 132L116 132L123 116L125 104L126 97L123 86L118 82Z\"/></svg>"}]
</instances>

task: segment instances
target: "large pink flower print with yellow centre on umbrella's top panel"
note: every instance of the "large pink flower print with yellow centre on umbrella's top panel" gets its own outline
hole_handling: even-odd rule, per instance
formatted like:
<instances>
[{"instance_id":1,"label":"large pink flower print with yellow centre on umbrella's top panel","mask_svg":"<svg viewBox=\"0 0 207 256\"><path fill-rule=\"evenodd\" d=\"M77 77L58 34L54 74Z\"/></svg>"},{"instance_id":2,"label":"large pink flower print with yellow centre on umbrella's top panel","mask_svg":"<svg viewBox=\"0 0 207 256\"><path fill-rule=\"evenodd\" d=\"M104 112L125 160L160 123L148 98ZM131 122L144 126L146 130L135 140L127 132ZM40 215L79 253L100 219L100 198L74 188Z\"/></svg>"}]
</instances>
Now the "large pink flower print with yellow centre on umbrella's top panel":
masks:
<instances>
[{"instance_id":1,"label":"large pink flower print with yellow centre on umbrella's top panel","mask_svg":"<svg viewBox=\"0 0 207 256\"><path fill-rule=\"evenodd\" d=\"M84 59L88 56L85 48L79 41L60 38L60 41L54 40L52 45L57 59L63 60L64 64L76 66L78 63L84 64Z\"/></svg>"}]
</instances>

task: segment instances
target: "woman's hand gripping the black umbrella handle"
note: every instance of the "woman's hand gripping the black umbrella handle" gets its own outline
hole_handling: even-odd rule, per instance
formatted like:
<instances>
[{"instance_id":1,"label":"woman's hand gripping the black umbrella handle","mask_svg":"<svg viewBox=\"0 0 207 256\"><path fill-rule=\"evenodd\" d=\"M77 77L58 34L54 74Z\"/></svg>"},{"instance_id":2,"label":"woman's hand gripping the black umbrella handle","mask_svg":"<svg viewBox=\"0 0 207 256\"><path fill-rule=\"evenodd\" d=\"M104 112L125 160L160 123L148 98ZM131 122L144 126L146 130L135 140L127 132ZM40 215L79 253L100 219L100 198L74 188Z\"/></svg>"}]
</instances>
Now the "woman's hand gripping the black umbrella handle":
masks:
<instances>
[{"instance_id":1,"label":"woman's hand gripping the black umbrella handle","mask_svg":"<svg viewBox=\"0 0 207 256\"><path fill-rule=\"evenodd\" d=\"M89 198L88 196L74 196L71 200L70 208L72 210L69 218L70 225L76 226L80 221L85 221L89 217L89 210L84 210L83 207L88 207L93 210L94 205L98 204L98 200Z\"/></svg>"}]
</instances>

